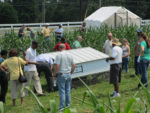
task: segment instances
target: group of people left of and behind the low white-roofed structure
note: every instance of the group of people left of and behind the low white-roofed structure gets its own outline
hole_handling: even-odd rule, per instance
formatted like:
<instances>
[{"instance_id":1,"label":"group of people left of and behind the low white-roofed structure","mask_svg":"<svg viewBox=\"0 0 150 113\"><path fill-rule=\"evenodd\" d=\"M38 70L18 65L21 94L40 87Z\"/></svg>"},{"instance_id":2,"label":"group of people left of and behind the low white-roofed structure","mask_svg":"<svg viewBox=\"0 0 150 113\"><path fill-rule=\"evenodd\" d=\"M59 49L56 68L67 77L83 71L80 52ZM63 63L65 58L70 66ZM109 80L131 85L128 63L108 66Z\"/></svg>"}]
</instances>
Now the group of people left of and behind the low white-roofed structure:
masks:
<instances>
[{"instance_id":1,"label":"group of people left of and behind the low white-roofed structure","mask_svg":"<svg viewBox=\"0 0 150 113\"><path fill-rule=\"evenodd\" d=\"M56 56L55 62L53 59L46 55L40 54L37 56L36 49L38 48L38 42L35 41L36 34L31 28L27 28L30 31L32 39L31 47L29 47L24 53L23 58L18 57L16 49L9 51L7 58L7 51L1 51L0 59L0 101L5 103L5 97L8 89L8 79L10 79L10 89L13 106L16 106L16 99L18 97L17 92L19 89L19 97L21 99L21 105L24 105L24 97L28 96L28 91L22 90L25 86L30 86L33 81L34 90L38 96L45 96L40 83L40 73L44 72L47 81L48 92L54 91L53 81L57 76L57 83L60 95L60 107L63 109L65 106L70 106L70 91L71 91L71 74L75 69L75 63L73 57L66 53L65 50L81 48L82 36L78 36L77 40L74 41L72 47L69 46L66 39L63 37L62 25L56 29L56 41L58 43L54 47L54 51L60 51L60 54ZM25 26L23 25L19 30L18 36L23 38ZM41 34L45 39L46 43L50 40L50 30L48 24L42 29ZM48 44L49 45L49 44ZM7 59L6 59L7 58ZM53 66L55 64L55 66ZM23 66L23 68L22 68ZM55 67L55 68L54 68ZM53 69L54 68L54 69ZM23 70L22 70L23 69ZM8 75L10 78L8 78ZM20 75L24 75L27 82L19 82ZM64 102L66 104L64 104Z\"/></svg>"}]
</instances>

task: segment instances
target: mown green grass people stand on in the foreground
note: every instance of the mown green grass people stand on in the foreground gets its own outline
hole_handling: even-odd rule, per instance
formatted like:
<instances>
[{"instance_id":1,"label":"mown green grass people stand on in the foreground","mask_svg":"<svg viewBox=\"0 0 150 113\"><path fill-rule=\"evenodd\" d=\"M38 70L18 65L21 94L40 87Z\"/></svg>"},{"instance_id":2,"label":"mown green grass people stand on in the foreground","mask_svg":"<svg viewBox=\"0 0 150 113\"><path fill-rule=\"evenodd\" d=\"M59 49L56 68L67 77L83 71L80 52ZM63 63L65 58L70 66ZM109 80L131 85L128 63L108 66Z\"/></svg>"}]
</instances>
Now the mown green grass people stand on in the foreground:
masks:
<instances>
[{"instance_id":1,"label":"mown green grass people stand on in the foreground","mask_svg":"<svg viewBox=\"0 0 150 113\"><path fill-rule=\"evenodd\" d=\"M122 82L120 84L120 98L112 98L112 103L114 107L118 106L118 101L121 103L121 109L123 110L127 101L134 96L134 94L139 91L137 90L138 80L135 77L131 77L134 75L134 70L130 69L128 74L122 73ZM149 73L150 75L150 73ZM45 78L41 78L42 86L45 88L46 81ZM108 80L102 80L99 83L95 83L94 85L89 86L92 91L95 93L96 97L98 98L99 102L108 104L108 93L113 91L113 86L108 83ZM92 108L85 104L81 104L80 101L74 99L74 97L82 99L83 93L86 91L85 87L78 87L76 89L72 89L72 101L71 107L76 108L78 113L92 113ZM46 92L47 93L47 92ZM59 96L58 92L47 93L48 96L39 97L40 101L43 103L45 107L49 107L50 100L55 100L57 106L59 107ZM144 107L143 99L145 99L145 95L143 90L140 90L137 97L142 101L136 101L135 104L132 106L134 112L138 109ZM88 98L86 98L88 101ZM20 100L17 99L17 106L12 106L12 101L10 97L10 89L7 93L7 100L5 104L6 113L40 113L37 103L35 102L34 98L30 95L29 97L25 98L25 105L20 105ZM109 113L109 112L108 112Z\"/></svg>"}]
</instances>

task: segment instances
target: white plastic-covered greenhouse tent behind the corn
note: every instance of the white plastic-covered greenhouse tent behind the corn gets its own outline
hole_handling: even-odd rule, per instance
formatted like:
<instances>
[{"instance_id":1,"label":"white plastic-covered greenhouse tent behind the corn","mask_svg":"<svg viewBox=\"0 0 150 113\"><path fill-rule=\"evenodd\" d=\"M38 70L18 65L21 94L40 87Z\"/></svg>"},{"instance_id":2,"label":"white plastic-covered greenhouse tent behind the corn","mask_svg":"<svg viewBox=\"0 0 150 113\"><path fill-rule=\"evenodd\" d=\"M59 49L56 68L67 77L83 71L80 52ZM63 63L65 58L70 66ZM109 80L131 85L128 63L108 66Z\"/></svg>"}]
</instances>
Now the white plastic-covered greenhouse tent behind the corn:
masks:
<instances>
[{"instance_id":1,"label":"white plastic-covered greenhouse tent behind the corn","mask_svg":"<svg viewBox=\"0 0 150 113\"><path fill-rule=\"evenodd\" d=\"M123 7L111 6L102 7L88 16L86 19L87 28L100 27L104 24L109 27L118 27L124 25L140 26L141 18Z\"/></svg>"}]
</instances>

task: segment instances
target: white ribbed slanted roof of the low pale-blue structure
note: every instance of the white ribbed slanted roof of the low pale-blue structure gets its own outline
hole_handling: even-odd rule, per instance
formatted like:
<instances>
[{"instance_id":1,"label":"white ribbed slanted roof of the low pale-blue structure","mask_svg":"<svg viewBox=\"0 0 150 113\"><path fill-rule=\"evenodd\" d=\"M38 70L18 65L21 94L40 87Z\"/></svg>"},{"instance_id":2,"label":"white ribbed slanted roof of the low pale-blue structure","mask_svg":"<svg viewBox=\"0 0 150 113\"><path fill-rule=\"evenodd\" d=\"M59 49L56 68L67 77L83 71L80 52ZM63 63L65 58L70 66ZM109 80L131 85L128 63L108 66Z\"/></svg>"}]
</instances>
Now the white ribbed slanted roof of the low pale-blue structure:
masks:
<instances>
[{"instance_id":1,"label":"white ribbed slanted roof of the low pale-blue structure","mask_svg":"<svg viewBox=\"0 0 150 113\"><path fill-rule=\"evenodd\" d=\"M98 50L95 50L91 47L72 49L72 50L67 50L66 52L68 52L73 56L74 62L76 64L108 58L106 54ZM46 54L51 56L51 58L55 60L55 57L56 55L59 54L59 52L52 52Z\"/></svg>"}]
</instances>

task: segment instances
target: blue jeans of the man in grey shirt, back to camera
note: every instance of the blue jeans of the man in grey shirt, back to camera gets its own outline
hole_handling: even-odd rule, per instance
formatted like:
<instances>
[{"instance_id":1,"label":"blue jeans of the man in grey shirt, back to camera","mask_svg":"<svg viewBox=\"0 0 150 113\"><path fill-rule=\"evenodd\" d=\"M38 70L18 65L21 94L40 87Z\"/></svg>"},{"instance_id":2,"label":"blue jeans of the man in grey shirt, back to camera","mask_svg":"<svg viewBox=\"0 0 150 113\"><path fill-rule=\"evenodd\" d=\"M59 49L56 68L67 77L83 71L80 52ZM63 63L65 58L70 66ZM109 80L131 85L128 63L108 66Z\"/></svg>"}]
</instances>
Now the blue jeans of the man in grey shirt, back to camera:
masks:
<instances>
[{"instance_id":1,"label":"blue jeans of the man in grey shirt, back to camera","mask_svg":"<svg viewBox=\"0 0 150 113\"><path fill-rule=\"evenodd\" d=\"M59 109L70 106L71 100L71 74L58 74L58 89L60 97Z\"/></svg>"}]
</instances>

